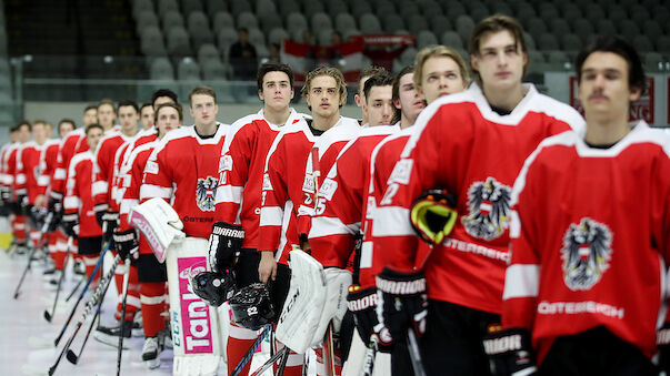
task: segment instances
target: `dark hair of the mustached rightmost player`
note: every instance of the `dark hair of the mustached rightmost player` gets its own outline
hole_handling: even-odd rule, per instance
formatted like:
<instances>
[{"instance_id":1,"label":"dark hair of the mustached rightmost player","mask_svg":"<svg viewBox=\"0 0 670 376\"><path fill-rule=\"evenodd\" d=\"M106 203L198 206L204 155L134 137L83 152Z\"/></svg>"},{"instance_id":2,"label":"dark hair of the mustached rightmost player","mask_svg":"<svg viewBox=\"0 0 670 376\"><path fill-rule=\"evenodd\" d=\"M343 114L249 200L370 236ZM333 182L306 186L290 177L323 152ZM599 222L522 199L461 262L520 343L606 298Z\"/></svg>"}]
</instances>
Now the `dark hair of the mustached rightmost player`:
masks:
<instances>
[{"instance_id":1,"label":"dark hair of the mustached rightmost player","mask_svg":"<svg viewBox=\"0 0 670 376\"><path fill-rule=\"evenodd\" d=\"M629 88L644 91L647 88L647 79L644 78L644 70L642 69L642 61L640 60L638 51L623 39L612 35L598 37L581 51L579 51L574 62L578 83L581 83L581 69L584 64L584 61L593 52L611 52L623 58L623 60L626 60L628 63Z\"/></svg>"}]
</instances>

